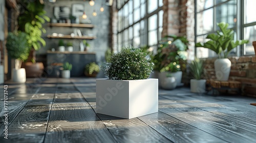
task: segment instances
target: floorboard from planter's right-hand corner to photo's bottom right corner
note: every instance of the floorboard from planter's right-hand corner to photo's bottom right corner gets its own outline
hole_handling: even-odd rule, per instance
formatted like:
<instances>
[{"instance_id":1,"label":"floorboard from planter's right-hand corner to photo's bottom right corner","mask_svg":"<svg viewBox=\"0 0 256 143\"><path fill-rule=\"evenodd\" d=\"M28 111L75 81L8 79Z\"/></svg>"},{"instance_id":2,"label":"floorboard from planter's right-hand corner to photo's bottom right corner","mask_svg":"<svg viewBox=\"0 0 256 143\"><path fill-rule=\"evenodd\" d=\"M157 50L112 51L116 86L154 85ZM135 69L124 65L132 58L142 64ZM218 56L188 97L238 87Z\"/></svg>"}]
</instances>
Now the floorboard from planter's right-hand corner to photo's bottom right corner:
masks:
<instances>
[{"instance_id":1,"label":"floorboard from planter's right-hand corner to photo's bottom right corner","mask_svg":"<svg viewBox=\"0 0 256 143\"><path fill-rule=\"evenodd\" d=\"M256 127L177 102L159 101L159 110L207 133L231 142L254 142ZM225 132L225 133L223 133Z\"/></svg>"}]
</instances>

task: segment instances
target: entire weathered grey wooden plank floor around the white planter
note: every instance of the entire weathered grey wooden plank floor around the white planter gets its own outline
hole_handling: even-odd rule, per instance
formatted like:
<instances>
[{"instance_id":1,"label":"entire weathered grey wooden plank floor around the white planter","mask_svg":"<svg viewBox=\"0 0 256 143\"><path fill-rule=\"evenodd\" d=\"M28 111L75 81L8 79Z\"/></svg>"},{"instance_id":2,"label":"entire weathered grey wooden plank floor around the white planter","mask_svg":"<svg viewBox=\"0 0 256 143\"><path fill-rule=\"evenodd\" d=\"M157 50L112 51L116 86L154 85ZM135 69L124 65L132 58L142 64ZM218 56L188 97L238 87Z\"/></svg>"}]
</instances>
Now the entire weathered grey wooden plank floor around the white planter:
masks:
<instances>
[{"instance_id":1,"label":"entire weathered grey wooden plank floor around the white planter","mask_svg":"<svg viewBox=\"0 0 256 143\"><path fill-rule=\"evenodd\" d=\"M93 78L8 85L8 139L0 142L255 142L256 98L159 89L159 111L126 120L96 114ZM0 92L4 92L1 85Z\"/></svg>"}]
</instances>

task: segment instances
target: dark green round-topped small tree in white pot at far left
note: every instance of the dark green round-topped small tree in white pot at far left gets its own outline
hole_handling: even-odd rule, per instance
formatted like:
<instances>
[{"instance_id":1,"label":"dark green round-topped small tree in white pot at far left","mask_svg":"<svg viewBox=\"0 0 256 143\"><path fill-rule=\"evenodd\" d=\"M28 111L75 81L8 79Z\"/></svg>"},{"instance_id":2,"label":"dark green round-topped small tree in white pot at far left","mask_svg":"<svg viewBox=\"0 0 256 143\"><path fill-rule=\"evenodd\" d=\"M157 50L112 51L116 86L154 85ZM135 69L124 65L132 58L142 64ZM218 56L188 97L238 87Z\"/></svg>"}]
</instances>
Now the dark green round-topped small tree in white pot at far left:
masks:
<instances>
[{"instance_id":1,"label":"dark green round-topped small tree in white pot at far left","mask_svg":"<svg viewBox=\"0 0 256 143\"><path fill-rule=\"evenodd\" d=\"M12 69L12 81L24 83L26 82L26 70L20 68L22 62L28 59L29 44L27 42L27 34L24 32L9 32L6 42L8 55L15 60L15 68Z\"/></svg>"}]
</instances>

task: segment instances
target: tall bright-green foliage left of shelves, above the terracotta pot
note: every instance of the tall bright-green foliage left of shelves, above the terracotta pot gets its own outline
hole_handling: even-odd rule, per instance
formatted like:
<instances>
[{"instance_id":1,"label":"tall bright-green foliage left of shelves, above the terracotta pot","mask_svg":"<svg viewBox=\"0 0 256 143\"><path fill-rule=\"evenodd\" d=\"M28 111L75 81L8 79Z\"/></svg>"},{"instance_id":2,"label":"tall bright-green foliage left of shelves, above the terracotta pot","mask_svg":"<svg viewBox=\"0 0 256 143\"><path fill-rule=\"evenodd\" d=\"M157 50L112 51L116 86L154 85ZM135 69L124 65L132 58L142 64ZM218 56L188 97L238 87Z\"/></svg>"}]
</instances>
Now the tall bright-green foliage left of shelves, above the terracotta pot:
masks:
<instances>
[{"instance_id":1,"label":"tall bright-green foliage left of shelves, above the terracotta pot","mask_svg":"<svg viewBox=\"0 0 256 143\"><path fill-rule=\"evenodd\" d=\"M42 28L42 24L46 21L50 21L50 18L46 16L43 4L39 0L30 2L29 0L19 1L21 3L21 9L24 10L18 17L19 30L28 34L28 44L35 50L39 50L42 46L46 45L46 41L42 39L42 33L46 33L46 30Z\"/></svg>"}]
</instances>

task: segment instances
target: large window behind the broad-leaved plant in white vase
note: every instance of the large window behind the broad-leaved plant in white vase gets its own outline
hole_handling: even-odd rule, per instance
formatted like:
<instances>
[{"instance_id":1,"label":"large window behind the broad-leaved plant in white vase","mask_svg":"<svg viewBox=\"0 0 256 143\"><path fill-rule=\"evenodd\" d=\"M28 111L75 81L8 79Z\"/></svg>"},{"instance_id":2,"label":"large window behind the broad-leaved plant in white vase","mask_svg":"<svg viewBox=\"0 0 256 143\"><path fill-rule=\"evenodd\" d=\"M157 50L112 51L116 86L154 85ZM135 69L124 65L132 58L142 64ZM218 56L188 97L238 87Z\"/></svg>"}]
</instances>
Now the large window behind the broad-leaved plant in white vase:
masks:
<instances>
[{"instance_id":1,"label":"large window behind the broad-leaved plant in white vase","mask_svg":"<svg viewBox=\"0 0 256 143\"><path fill-rule=\"evenodd\" d=\"M197 0L196 1L196 42L206 42L206 35L219 30L217 23L229 23L235 32L234 39L247 39L248 44L238 46L230 56L254 54L252 41L256 40L255 0ZM198 57L214 57L214 52L198 47Z\"/></svg>"}]
</instances>

